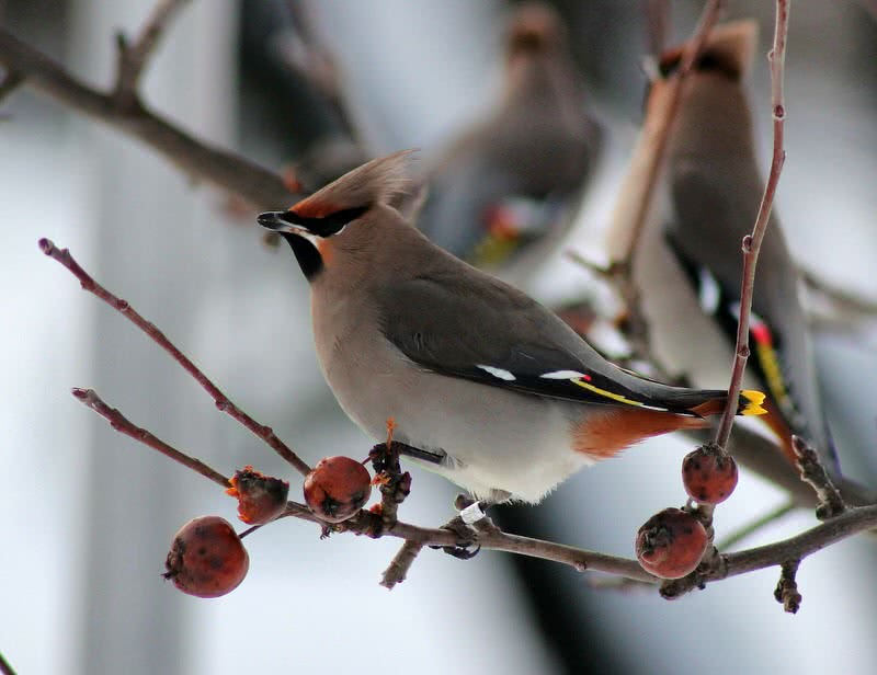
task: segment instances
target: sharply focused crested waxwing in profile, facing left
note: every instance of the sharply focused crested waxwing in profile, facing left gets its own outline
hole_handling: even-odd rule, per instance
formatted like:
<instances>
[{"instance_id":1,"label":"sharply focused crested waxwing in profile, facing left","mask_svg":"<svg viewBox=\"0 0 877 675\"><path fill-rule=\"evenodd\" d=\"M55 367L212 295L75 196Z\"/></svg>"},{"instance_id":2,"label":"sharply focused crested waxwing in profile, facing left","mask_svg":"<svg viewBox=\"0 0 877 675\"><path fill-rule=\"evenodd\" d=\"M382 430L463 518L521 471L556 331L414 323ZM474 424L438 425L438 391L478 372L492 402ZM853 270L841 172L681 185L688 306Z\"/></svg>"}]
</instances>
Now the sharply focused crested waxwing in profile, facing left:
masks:
<instances>
[{"instance_id":1,"label":"sharply focused crested waxwing in profile, facing left","mask_svg":"<svg viewBox=\"0 0 877 675\"><path fill-rule=\"evenodd\" d=\"M430 242L390 206L409 155L259 216L310 282L322 371L367 434L384 439L392 419L403 453L474 495L538 502L581 467L724 409L726 391L622 370L542 305ZM739 412L760 413L762 399L744 391Z\"/></svg>"}]
</instances>

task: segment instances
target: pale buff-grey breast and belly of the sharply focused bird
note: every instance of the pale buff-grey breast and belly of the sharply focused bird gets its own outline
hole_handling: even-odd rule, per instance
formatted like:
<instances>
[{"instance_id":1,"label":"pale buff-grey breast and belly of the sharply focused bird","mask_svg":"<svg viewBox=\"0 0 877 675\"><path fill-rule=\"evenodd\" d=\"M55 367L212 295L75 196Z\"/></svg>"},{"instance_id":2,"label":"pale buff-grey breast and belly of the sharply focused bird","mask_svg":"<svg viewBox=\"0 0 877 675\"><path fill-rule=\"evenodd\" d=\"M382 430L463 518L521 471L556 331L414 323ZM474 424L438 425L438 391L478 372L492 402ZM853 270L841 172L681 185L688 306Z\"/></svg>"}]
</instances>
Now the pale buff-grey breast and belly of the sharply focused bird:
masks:
<instances>
[{"instance_id":1,"label":"pale buff-grey breast and belly of the sharply focused bird","mask_svg":"<svg viewBox=\"0 0 877 675\"><path fill-rule=\"evenodd\" d=\"M538 502L584 466L571 449L571 426L583 413L559 403L419 368L383 336L379 344L353 338L321 355L329 386L348 415L376 441L396 423L395 438L442 450L441 465L418 461L476 496L502 490ZM358 343L358 344L357 344ZM360 355L369 354L364 361Z\"/></svg>"}]
</instances>

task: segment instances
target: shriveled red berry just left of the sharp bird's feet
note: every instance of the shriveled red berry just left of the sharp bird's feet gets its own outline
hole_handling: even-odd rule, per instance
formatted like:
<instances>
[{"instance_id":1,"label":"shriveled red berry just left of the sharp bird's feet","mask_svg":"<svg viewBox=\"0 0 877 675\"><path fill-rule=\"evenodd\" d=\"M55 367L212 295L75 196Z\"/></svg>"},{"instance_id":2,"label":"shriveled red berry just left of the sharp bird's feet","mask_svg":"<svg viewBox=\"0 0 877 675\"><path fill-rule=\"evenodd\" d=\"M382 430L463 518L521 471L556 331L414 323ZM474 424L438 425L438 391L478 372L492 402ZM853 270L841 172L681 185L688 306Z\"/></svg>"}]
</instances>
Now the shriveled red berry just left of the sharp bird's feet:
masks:
<instances>
[{"instance_id":1,"label":"shriveled red berry just left of the sharp bird's feet","mask_svg":"<svg viewBox=\"0 0 877 675\"><path fill-rule=\"evenodd\" d=\"M305 477L305 502L328 523L354 516L371 495L368 470L350 457L326 457Z\"/></svg>"}]
</instances>

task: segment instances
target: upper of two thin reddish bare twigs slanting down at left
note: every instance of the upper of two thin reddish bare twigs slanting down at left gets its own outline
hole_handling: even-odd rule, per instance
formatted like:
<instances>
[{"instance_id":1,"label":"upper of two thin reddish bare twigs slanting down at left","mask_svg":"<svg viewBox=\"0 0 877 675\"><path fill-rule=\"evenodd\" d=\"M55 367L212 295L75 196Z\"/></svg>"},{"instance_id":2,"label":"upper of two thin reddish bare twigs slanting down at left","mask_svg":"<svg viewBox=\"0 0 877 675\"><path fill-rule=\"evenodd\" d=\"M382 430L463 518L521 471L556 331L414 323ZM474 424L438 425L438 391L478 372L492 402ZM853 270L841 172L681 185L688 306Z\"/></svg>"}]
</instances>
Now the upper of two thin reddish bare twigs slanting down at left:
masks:
<instances>
[{"instance_id":1,"label":"upper of two thin reddish bare twigs slanting down at left","mask_svg":"<svg viewBox=\"0 0 877 675\"><path fill-rule=\"evenodd\" d=\"M283 457L289 462L301 476L307 476L310 472L310 467L304 462L289 447L281 441L270 426L263 426L253 420L250 415L243 412L240 408L235 405L228 397L223 393L219 388L214 385L198 367L192 363L189 357L183 354L176 346L164 336L152 323L144 319L137 311L127 302L117 296L113 295L95 282L70 255L67 249L59 250L48 239L39 240L39 248L43 253L49 258L58 261L61 265L67 267L70 273L76 276L83 290L93 294L110 307L118 311L123 317L128 319L138 329L146 333L156 344L171 355L182 368L189 373L202 388L213 397L216 407L223 412L228 413L232 419L240 422L243 426L250 430L259 438L264 441L277 455Z\"/></svg>"}]
</instances>

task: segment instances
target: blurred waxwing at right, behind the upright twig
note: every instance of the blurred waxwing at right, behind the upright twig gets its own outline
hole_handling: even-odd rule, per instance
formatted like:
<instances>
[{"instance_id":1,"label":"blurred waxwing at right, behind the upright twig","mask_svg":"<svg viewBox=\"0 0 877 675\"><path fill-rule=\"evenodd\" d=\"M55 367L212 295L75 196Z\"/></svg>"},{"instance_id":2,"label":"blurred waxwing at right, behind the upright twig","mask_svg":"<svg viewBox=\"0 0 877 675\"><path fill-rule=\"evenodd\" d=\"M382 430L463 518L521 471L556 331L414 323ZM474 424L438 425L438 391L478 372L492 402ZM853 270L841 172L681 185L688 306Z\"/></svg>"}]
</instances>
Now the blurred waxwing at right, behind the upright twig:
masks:
<instances>
[{"instance_id":1,"label":"blurred waxwing at right, behind the upright twig","mask_svg":"<svg viewBox=\"0 0 877 675\"><path fill-rule=\"evenodd\" d=\"M638 171L656 147L653 122L668 110L668 82L652 83L643 134L607 240L611 260L622 261L631 251L653 358L664 371L697 387L728 377L742 282L741 242L752 231L764 191L742 82L756 37L753 21L711 32L682 84L652 207L635 236L629 208L643 187ZM668 52L662 73L672 72L680 57L679 48ZM789 460L795 458L791 434L797 434L836 476L798 285L797 267L772 216L756 271L744 386L768 393L767 414L761 419Z\"/></svg>"}]
</instances>

